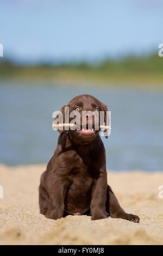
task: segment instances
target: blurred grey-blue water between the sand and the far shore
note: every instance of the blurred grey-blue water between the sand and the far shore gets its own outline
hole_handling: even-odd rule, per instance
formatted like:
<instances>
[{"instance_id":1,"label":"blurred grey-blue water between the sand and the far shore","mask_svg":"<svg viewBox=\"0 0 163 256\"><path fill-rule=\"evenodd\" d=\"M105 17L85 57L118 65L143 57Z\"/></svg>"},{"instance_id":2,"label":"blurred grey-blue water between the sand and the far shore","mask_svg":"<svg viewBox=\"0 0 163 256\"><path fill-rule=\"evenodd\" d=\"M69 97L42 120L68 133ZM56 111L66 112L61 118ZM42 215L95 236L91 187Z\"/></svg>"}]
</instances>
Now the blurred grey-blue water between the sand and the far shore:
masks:
<instances>
[{"instance_id":1,"label":"blurred grey-blue water between the sand and the far shore","mask_svg":"<svg viewBox=\"0 0 163 256\"><path fill-rule=\"evenodd\" d=\"M108 169L163 169L163 92L57 84L0 83L0 162L47 163L59 134L52 130L52 112L82 93L111 110L113 130L102 138Z\"/></svg>"}]
</instances>

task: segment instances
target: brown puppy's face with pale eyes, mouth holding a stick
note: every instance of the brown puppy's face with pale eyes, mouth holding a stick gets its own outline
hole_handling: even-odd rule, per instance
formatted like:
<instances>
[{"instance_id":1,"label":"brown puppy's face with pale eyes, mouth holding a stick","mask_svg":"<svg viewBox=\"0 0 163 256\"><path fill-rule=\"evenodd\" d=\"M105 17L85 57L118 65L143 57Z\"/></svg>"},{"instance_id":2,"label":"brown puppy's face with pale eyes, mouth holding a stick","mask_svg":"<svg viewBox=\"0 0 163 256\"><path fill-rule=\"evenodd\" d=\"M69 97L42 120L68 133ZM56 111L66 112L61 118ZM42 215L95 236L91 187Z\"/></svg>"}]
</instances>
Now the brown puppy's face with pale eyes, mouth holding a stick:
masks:
<instances>
[{"instance_id":1,"label":"brown puppy's face with pale eyes, mouth holding a stick","mask_svg":"<svg viewBox=\"0 0 163 256\"><path fill-rule=\"evenodd\" d=\"M65 107L69 107L69 112L77 112L78 114L78 129L68 130L68 133L75 143L85 144L91 143L93 139L99 133L99 130L96 130L98 125L105 124L107 107L101 101L97 100L95 97L82 94L74 97L67 105L62 106L61 112L65 114ZM100 116L103 112L104 122L101 123ZM92 115L91 115L92 113ZM70 122L74 119L74 117L70 118ZM80 121L80 122L79 122Z\"/></svg>"}]
</instances>

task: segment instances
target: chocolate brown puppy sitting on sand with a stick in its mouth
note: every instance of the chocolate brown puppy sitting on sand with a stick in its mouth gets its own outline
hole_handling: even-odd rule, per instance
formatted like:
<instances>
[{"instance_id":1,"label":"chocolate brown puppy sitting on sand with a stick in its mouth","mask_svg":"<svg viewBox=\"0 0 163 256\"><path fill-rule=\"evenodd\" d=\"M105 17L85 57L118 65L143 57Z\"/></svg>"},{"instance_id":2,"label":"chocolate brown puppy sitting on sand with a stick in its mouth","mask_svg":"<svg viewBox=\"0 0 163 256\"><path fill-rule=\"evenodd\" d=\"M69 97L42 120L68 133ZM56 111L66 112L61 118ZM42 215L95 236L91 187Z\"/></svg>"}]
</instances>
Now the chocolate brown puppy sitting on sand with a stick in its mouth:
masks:
<instances>
[{"instance_id":1,"label":"chocolate brown puppy sitting on sand with a stick in its mouth","mask_svg":"<svg viewBox=\"0 0 163 256\"><path fill-rule=\"evenodd\" d=\"M67 106L70 112L108 111L106 105L87 94L74 97ZM64 109L65 106L61 108L63 114ZM65 214L91 214L91 220L110 216L139 222L138 216L121 208L107 184L105 149L99 130L89 130L87 126L60 131L57 149L41 175L39 205L40 213L54 220Z\"/></svg>"}]
</instances>

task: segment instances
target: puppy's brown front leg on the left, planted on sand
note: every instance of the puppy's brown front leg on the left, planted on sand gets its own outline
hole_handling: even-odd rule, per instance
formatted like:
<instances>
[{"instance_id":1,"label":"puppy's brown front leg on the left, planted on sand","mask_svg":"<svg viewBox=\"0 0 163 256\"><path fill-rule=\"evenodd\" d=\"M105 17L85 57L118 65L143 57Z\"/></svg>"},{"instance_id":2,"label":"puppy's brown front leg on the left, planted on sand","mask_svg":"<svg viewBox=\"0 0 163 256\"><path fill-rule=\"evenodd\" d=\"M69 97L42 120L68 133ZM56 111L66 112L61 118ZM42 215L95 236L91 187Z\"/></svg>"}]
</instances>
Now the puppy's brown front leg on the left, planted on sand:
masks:
<instances>
[{"instance_id":1,"label":"puppy's brown front leg on the left, planted on sand","mask_svg":"<svg viewBox=\"0 0 163 256\"><path fill-rule=\"evenodd\" d=\"M46 212L46 218L52 218L57 220L64 216L64 199L67 191L67 181L61 179L52 179L51 187L48 192L48 210Z\"/></svg>"}]
</instances>

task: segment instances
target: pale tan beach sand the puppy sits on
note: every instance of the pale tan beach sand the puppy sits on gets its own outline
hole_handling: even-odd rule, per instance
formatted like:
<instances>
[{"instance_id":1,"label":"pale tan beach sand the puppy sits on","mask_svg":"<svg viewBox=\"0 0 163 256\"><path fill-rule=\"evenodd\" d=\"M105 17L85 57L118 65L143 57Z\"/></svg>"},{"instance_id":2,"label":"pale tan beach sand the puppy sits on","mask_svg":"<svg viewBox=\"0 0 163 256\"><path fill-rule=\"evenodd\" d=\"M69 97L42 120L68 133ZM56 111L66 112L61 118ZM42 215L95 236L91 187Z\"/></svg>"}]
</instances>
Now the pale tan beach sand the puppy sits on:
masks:
<instances>
[{"instance_id":1,"label":"pale tan beach sand the puppy sits on","mask_svg":"<svg viewBox=\"0 0 163 256\"><path fill-rule=\"evenodd\" d=\"M1 245L163 245L163 172L108 172L108 183L123 208L140 223L90 216L48 220L39 214L38 186L46 166L0 165Z\"/></svg>"}]
</instances>

